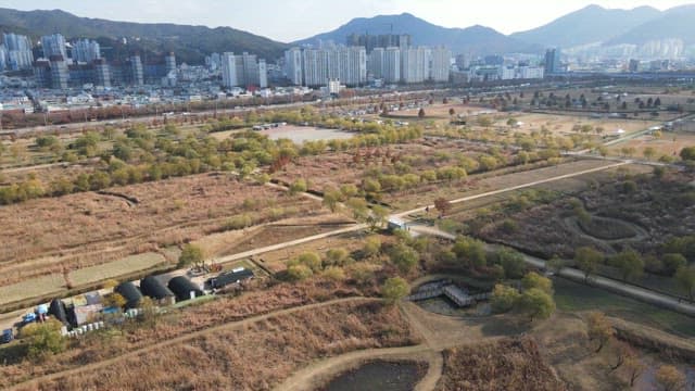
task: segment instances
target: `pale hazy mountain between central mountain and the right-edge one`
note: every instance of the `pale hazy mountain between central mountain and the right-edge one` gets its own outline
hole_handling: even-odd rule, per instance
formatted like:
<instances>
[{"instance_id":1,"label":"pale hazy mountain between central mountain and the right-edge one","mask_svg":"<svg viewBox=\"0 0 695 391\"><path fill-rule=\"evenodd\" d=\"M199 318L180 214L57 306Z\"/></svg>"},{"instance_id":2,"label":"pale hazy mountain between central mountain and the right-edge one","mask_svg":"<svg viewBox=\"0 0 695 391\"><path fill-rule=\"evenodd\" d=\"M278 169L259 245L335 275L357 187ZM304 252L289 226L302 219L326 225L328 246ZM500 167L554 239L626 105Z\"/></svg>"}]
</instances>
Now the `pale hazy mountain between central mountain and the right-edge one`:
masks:
<instances>
[{"instance_id":1,"label":"pale hazy mountain between central mountain and the right-edge one","mask_svg":"<svg viewBox=\"0 0 695 391\"><path fill-rule=\"evenodd\" d=\"M544 26L515 33L510 37L544 47L571 48L610 40L660 16L661 12L650 7L607 10L589 5Z\"/></svg>"}]
</instances>

